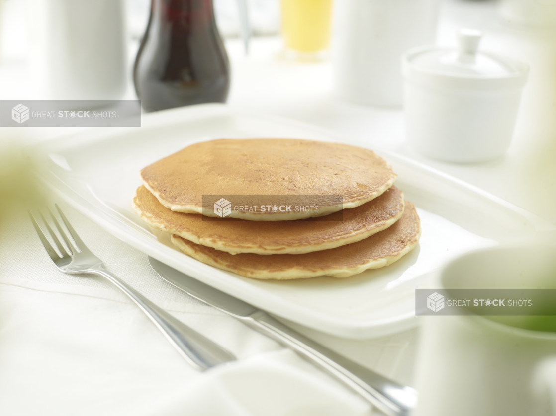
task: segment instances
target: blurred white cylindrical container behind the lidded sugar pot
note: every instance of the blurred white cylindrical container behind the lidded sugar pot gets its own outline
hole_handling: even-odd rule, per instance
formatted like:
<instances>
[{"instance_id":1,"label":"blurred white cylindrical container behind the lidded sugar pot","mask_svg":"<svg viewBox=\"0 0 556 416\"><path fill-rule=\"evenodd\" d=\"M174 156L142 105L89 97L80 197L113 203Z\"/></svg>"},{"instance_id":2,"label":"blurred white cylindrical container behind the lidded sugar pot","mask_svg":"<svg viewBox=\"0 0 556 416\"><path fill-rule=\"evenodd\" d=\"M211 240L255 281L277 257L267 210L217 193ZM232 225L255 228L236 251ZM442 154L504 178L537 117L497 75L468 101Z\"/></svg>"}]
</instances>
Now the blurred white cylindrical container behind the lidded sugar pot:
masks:
<instances>
[{"instance_id":1,"label":"blurred white cylindrical container behind the lidded sugar pot","mask_svg":"<svg viewBox=\"0 0 556 416\"><path fill-rule=\"evenodd\" d=\"M434 43L438 0L340 0L332 13L334 94L366 105L401 106L404 50Z\"/></svg>"}]
</instances>

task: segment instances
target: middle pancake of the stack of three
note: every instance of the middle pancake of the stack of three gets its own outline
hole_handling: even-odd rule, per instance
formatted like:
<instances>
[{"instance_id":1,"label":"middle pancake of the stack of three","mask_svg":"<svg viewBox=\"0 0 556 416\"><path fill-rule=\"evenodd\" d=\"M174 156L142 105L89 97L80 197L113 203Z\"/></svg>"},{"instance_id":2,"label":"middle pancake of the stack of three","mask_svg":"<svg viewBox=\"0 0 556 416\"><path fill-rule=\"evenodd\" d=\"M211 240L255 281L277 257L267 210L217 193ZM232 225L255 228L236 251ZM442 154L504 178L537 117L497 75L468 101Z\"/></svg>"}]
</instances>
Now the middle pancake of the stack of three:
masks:
<instances>
[{"instance_id":1,"label":"middle pancake of the stack of three","mask_svg":"<svg viewBox=\"0 0 556 416\"><path fill-rule=\"evenodd\" d=\"M372 201L326 217L296 221L245 221L173 212L145 186L137 188L133 210L148 225L203 246L232 254L307 253L366 239L398 221L404 197L395 186Z\"/></svg>"}]
</instances>

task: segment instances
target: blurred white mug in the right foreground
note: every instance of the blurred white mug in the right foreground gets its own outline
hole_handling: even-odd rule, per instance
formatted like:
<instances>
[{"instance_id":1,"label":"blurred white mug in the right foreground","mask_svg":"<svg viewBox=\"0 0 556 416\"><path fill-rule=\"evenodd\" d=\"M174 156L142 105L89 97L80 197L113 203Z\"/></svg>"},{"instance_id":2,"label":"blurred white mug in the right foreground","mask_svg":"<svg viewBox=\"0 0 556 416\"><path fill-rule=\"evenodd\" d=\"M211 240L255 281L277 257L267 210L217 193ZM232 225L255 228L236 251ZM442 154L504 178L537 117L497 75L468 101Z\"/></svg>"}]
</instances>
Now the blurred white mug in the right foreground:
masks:
<instances>
[{"instance_id":1,"label":"blurred white mug in the right foreground","mask_svg":"<svg viewBox=\"0 0 556 416\"><path fill-rule=\"evenodd\" d=\"M551 235L468 253L444 268L439 288L554 289ZM556 333L510 326L519 316L422 318L416 416L556 415Z\"/></svg>"}]
</instances>

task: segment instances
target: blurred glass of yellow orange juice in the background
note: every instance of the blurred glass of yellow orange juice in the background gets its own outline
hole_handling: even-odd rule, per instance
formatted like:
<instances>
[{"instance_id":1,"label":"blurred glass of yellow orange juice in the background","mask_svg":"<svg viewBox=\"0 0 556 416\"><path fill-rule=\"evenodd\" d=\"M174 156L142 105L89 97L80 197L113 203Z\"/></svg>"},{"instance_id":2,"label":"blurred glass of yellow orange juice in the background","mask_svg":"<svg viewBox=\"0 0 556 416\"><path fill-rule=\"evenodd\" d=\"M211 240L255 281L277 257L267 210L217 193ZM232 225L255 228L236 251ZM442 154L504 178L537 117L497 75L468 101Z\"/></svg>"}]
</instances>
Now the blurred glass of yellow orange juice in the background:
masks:
<instances>
[{"instance_id":1,"label":"blurred glass of yellow orange juice in the background","mask_svg":"<svg viewBox=\"0 0 556 416\"><path fill-rule=\"evenodd\" d=\"M281 6L286 55L324 58L330 44L332 0L281 0Z\"/></svg>"}]
</instances>

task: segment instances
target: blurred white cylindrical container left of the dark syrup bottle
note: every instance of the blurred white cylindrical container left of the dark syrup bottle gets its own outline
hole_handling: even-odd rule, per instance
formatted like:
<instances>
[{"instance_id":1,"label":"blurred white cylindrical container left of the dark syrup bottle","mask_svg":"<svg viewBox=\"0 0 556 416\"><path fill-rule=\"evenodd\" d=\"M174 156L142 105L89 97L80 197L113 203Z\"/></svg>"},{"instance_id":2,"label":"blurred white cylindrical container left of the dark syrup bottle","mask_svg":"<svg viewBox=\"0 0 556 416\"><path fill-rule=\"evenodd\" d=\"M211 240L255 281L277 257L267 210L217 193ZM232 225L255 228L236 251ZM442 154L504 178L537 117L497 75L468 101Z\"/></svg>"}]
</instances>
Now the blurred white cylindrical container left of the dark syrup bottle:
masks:
<instances>
[{"instance_id":1,"label":"blurred white cylindrical container left of the dark syrup bottle","mask_svg":"<svg viewBox=\"0 0 556 416\"><path fill-rule=\"evenodd\" d=\"M123 0L28 0L27 6L33 98L123 97L129 75Z\"/></svg>"}]
</instances>

